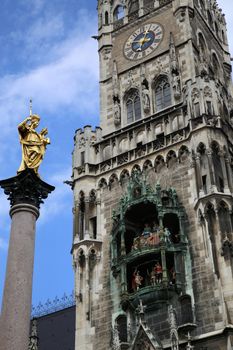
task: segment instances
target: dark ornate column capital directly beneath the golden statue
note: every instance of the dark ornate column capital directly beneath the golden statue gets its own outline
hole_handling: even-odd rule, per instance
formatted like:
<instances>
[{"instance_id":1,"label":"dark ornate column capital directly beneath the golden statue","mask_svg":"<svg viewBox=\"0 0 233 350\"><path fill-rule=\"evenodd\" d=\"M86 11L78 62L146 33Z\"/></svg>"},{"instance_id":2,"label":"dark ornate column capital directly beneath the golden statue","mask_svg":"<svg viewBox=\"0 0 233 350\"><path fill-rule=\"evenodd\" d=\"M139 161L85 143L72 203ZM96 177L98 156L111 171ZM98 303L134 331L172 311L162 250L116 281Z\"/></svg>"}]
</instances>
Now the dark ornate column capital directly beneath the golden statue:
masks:
<instances>
[{"instance_id":1,"label":"dark ornate column capital directly beneath the golden statue","mask_svg":"<svg viewBox=\"0 0 233 350\"><path fill-rule=\"evenodd\" d=\"M0 181L0 187L10 200L11 208L16 205L28 204L40 209L55 187L42 181L32 169L26 169L18 175Z\"/></svg>"}]
</instances>

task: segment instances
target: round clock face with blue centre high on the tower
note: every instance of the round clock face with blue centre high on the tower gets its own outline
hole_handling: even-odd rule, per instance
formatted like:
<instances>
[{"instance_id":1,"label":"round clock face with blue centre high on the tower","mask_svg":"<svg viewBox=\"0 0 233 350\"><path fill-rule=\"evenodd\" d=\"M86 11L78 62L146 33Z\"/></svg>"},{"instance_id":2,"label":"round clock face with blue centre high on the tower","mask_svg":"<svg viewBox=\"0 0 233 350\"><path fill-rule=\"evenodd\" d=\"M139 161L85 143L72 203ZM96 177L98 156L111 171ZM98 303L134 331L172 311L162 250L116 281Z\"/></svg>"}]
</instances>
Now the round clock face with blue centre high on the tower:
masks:
<instances>
[{"instance_id":1,"label":"round clock face with blue centre high on the tower","mask_svg":"<svg viewBox=\"0 0 233 350\"><path fill-rule=\"evenodd\" d=\"M148 23L130 35L124 46L129 60L140 60L154 51L163 40L163 28L158 23Z\"/></svg>"}]
</instances>

